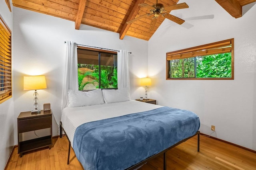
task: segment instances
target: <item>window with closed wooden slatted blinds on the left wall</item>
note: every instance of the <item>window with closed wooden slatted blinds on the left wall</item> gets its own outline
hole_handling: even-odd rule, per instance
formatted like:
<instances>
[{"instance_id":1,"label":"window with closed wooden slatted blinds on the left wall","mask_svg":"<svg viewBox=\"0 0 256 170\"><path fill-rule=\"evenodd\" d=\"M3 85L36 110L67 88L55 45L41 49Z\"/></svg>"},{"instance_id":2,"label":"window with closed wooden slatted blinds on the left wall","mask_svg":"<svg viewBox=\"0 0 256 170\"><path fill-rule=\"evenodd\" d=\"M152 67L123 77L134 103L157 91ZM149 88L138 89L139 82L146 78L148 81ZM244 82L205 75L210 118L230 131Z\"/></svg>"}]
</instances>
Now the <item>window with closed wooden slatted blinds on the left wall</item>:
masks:
<instances>
[{"instance_id":1,"label":"window with closed wooden slatted blinds on the left wall","mask_svg":"<svg viewBox=\"0 0 256 170\"><path fill-rule=\"evenodd\" d=\"M0 17L0 103L12 97L11 31Z\"/></svg>"}]
</instances>

